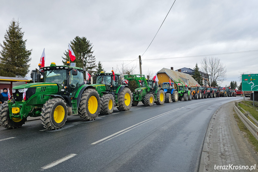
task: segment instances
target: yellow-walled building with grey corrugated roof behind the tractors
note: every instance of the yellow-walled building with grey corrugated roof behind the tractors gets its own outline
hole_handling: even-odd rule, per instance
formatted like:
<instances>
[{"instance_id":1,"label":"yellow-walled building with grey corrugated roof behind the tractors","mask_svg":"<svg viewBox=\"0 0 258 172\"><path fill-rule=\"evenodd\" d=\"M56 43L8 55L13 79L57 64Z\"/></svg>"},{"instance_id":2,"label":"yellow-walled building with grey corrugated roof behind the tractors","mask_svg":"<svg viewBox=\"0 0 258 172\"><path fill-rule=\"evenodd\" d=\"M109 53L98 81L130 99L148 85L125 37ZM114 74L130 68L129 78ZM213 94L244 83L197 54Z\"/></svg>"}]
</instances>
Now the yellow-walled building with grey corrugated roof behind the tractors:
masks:
<instances>
[{"instance_id":1,"label":"yellow-walled building with grey corrugated roof behind the tractors","mask_svg":"<svg viewBox=\"0 0 258 172\"><path fill-rule=\"evenodd\" d=\"M157 77L158 84L167 83L169 82L169 79L171 79L171 82L173 82L174 79L180 79L184 84L187 83L187 86L196 86L196 84L200 86L190 74L174 71L173 67L171 67L171 69L161 69L157 72Z\"/></svg>"}]
</instances>

